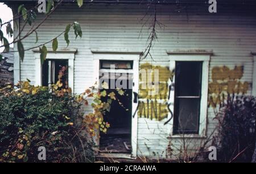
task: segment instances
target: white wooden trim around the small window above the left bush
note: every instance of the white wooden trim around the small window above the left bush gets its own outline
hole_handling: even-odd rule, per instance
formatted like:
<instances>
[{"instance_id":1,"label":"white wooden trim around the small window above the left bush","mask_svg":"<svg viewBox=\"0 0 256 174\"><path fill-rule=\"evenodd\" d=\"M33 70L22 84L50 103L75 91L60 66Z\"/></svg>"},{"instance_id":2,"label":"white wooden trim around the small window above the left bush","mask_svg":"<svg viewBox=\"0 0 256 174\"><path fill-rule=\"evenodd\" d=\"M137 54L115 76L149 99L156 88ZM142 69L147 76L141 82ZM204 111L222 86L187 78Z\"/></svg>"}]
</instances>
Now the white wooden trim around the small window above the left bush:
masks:
<instances>
[{"instance_id":1,"label":"white wooden trim around the small window above the left bush","mask_svg":"<svg viewBox=\"0 0 256 174\"><path fill-rule=\"evenodd\" d=\"M42 86L42 65L39 49L33 49L35 56L35 85ZM59 49L56 52L48 50L46 59L68 60L68 87L74 92L74 60L77 49Z\"/></svg>"}]
</instances>

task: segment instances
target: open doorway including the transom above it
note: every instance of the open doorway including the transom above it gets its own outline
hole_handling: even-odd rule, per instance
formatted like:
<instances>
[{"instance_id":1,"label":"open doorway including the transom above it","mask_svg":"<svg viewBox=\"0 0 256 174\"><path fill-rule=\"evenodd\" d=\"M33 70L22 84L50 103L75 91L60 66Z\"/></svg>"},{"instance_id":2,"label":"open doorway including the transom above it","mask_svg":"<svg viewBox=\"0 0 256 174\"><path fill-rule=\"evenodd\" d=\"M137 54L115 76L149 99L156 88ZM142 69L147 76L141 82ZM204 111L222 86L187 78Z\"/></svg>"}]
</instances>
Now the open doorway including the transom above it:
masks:
<instances>
[{"instance_id":1,"label":"open doorway including the transom above it","mask_svg":"<svg viewBox=\"0 0 256 174\"><path fill-rule=\"evenodd\" d=\"M108 94L114 92L118 100L113 100L111 103L110 112L104 114L105 122L109 122L110 128L107 133L100 133L100 150L101 152L117 152L117 153L131 153L131 120L132 120L132 94L133 89L128 88L129 84L133 84L132 74L126 73L126 67L124 66L127 62L109 62L114 63L115 68L118 69L117 63L122 63L123 73L112 74L109 73L109 79L104 79L104 82L109 82L109 89L106 90ZM101 69L102 67L101 62ZM105 69L105 72L108 73L108 69ZM125 74L125 75L123 75ZM117 79L122 77L122 82L126 83L127 88L122 88L124 95L118 95L116 88L110 88L110 84L115 84ZM111 77L111 78L110 78ZM101 77L102 78L102 77ZM108 97L103 97L101 100L106 101Z\"/></svg>"}]
</instances>

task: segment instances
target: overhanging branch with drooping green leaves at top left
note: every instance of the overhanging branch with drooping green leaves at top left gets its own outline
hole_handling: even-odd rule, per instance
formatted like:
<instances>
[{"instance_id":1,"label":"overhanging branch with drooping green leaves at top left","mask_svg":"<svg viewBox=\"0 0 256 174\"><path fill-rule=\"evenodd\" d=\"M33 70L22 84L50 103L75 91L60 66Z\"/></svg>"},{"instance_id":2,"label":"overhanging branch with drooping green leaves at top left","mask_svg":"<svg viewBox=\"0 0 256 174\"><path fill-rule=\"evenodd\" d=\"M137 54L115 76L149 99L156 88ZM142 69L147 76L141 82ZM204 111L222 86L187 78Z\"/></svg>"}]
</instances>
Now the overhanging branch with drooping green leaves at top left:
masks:
<instances>
[{"instance_id":1,"label":"overhanging branch with drooping green leaves at top left","mask_svg":"<svg viewBox=\"0 0 256 174\"><path fill-rule=\"evenodd\" d=\"M35 49L35 48L39 48L40 51L40 60L41 63L43 63L46 60L46 56L47 56L47 47L46 44L48 43L52 43L52 50L56 51L58 48L58 41L57 39L64 34L64 40L67 43L67 46L69 45L69 37L68 37L68 33L71 29L71 27L73 27L74 32L75 32L75 36L76 39L79 36L80 38L82 37L82 29L80 27L80 24L78 22L73 22L73 23L69 23L67 24L67 26L65 27L65 30L60 32L59 35L57 35L56 37L54 37L53 39L40 44L40 45L36 45L36 46L32 46L30 48L24 48L23 46L23 40L26 39L28 36L32 35L32 33L35 33L36 39L35 39L35 44L38 43L38 29L40 26L42 26L42 24L48 19L48 17L57 9L58 6L61 5L61 3L63 3L63 0L60 0L59 2L56 3L53 0L48 0L47 1L47 6L46 6L46 12L45 12L45 18L39 23L36 24L34 26L32 26L32 24L35 22L36 17L37 17L37 13L36 10L38 7L38 5L36 5L35 7L32 7L31 9L26 9L26 7L24 5L20 5L18 7L18 13L16 15L14 15L12 20L9 20L8 22L2 22L2 19L0 18L0 41L2 43L2 45L0 45L0 48L5 48L5 50L2 53L11 53L11 52L18 52L19 53L19 57L20 60L24 60L24 56L25 56L25 52L27 50L31 50L31 49ZM81 7L83 5L83 1L82 0L77 0L77 5L79 7ZM11 22L16 22L16 19L22 19L24 24L19 29L19 32L17 34L17 36L15 36L15 38L13 39L13 41L11 41L9 43L9 41L7 40L7 38L3 35L4 32L6 32L6 35L10 38L12 38L14 36L14 31L13 28L11 26ZM24 36L22 36L22 32L24 30L24 28L27 26L27 24L29 26L31 26L31 28L29 29L29 31L27 33L24 34ZM6 31L3 31L3 26L6 26ZM17 24L18 26L18 24ZM17 44L17 49L18 50L13 50L10 51L10 45L11 44ZM2 60L3 56L2 54L0 54L0 61Z\"/></svg>"}]
</instances>

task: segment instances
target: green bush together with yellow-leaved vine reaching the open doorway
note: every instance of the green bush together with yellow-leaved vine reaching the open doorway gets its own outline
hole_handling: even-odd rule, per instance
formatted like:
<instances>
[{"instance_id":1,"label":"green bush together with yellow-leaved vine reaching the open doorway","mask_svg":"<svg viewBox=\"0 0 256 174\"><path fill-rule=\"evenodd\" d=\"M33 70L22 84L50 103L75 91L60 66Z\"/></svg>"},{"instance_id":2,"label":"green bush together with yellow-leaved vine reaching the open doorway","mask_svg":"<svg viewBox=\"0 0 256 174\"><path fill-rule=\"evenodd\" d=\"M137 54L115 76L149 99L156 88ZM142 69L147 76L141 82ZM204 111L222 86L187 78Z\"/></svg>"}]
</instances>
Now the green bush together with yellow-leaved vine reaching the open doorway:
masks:
<instances>
[{"instance_id":1,"label":"green bush together with yellow-leaved vine reaching the open doorway","mask_svg":"<svg viewBox=\"0 0 256 174\"><path fill-rule=\"evenodd\" d=\"M118 98L95 86L72 95L64 71L62 67L51 87L32 86L28 80L0 89L0 162L40 162L40 146L47 150L46 162L94 161L92 137L98 139L99 130L106 133L110 124L104 121L104 113ZM88 105L89 97L93 112L84 113L81 105ZM101 97L107 97L107 102Z\"/></svg>"}]
</instances>

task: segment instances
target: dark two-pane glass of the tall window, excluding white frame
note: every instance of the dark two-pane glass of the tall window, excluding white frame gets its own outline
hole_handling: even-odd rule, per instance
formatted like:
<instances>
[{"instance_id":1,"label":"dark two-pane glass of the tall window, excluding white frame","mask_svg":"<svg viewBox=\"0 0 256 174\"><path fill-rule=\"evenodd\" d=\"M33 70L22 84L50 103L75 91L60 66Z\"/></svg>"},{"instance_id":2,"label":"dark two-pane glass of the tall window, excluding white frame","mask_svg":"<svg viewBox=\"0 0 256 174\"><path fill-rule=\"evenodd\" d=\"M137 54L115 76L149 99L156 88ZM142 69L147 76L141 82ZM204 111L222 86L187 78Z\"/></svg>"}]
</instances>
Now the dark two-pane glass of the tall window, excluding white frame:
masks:
<instances>
[{"instance_id":1,"label":"dark two-pane glass of the tall window, excluding white frame","mask_svg":"<svg viewBox=\"0 0 256 174\"><path fill-rule=\"evenodd\" d=\"M201 61L176 62L174 134L199 133L202 65Z\"/></svg>"}]
</instances>

